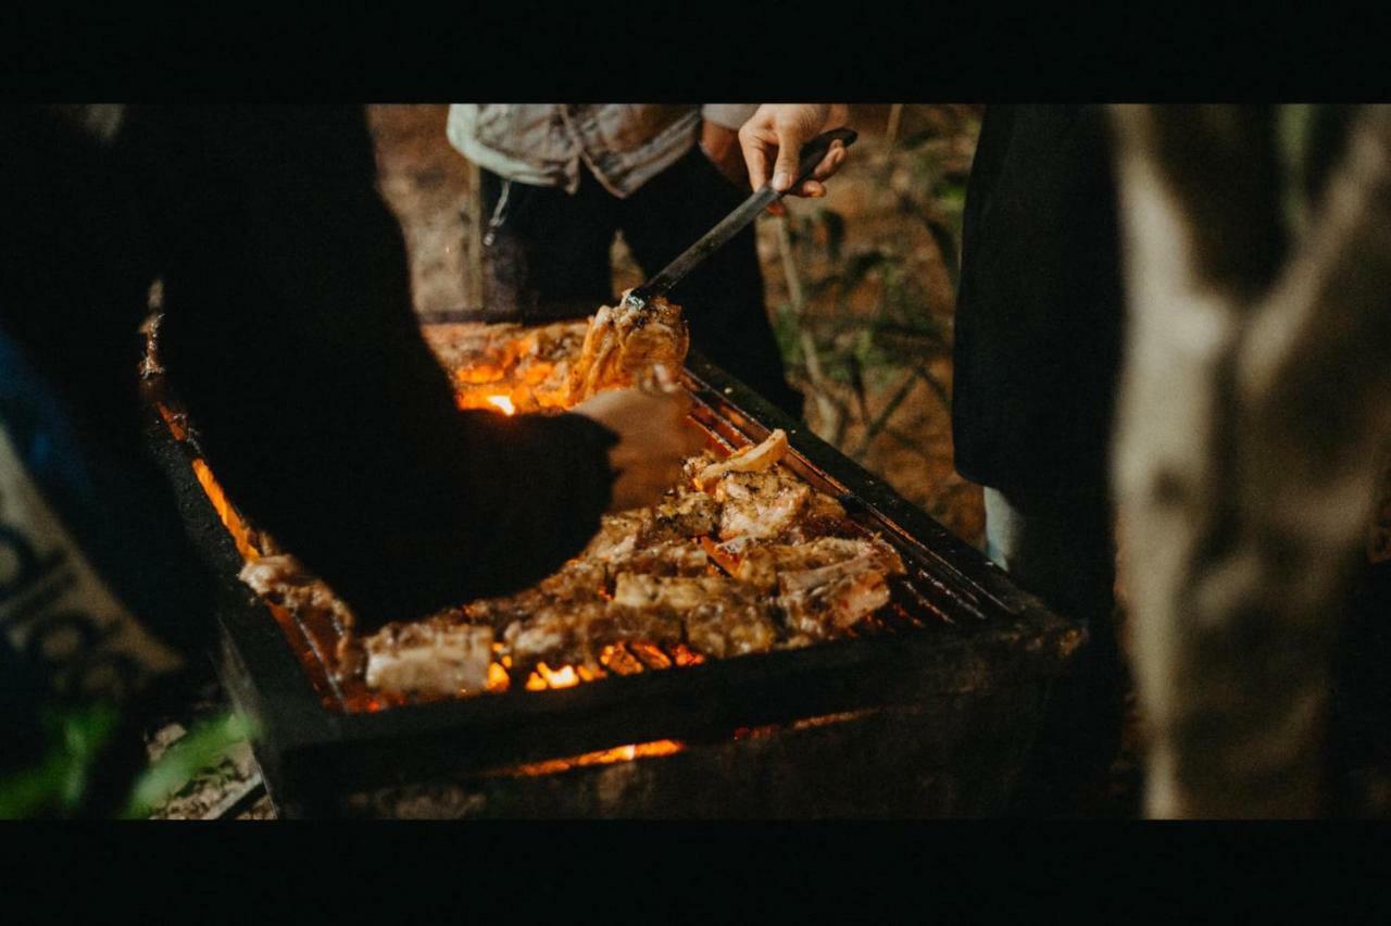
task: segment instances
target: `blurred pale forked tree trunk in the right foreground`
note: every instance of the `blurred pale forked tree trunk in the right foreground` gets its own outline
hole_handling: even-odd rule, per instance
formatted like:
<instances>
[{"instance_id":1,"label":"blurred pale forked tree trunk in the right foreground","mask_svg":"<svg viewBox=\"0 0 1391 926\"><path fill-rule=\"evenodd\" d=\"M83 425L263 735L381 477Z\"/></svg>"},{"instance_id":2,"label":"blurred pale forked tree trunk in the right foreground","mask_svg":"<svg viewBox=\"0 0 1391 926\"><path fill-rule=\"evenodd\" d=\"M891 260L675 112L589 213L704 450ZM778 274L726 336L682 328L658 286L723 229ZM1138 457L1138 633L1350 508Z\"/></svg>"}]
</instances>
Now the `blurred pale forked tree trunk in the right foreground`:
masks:
<instances>
[{"instance_id":1,"label":"blurred pale forked tree trunk in the right foreground","mask_svg":"<svg viewBox=\"0 0 1391 926\"><path fill-rule=\"evenodd\" d=\"M1391 435L1391 107L1127 106L1116 125L1146 811L1335 812L1337 652ZM1363 641L1387 619L1383 598Z\"/></svg>"}]
</instances>

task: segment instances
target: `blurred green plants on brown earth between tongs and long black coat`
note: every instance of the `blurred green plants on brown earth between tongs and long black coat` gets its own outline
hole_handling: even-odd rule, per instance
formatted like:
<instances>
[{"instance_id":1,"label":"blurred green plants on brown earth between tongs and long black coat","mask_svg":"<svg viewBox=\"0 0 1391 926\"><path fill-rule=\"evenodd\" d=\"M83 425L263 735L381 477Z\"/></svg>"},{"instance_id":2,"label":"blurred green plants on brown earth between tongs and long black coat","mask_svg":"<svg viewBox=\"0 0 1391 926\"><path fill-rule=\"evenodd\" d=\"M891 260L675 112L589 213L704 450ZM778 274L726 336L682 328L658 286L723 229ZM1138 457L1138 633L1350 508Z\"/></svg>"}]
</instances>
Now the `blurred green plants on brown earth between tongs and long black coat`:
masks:
<instances>
[{"instance_id":1,"label":"blurred green plants on brown earth between tongs and long black coat","mask_svg":"<svg viewBox=\"0 0 1391 926\"><path fill-rule=\"evenodd\" d=\"M979 491L951 467L950 409L979 117L970 106L853 107L861 140L829 195L759 228L769 309L808 423L971 542L983 516Z\"/></svg>"}]
</instances>

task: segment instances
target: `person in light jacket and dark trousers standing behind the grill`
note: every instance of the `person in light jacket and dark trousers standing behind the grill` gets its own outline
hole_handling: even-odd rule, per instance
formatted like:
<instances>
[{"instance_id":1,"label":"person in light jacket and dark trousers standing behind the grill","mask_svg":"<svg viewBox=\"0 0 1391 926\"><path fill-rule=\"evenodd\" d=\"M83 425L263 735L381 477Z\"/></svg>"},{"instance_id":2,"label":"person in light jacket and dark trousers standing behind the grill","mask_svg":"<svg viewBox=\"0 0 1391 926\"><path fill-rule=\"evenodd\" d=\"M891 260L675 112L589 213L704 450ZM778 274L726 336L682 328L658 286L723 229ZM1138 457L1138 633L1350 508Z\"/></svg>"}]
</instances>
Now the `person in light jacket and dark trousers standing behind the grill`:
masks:
<instances>
[{"instance_id":1,"label":"person in light jacket and dark trousers standing behind the grill","mask_svg":"<svg viewBox=\"0 0 1391 926\"><path fill-rule=\"evenodd\" d=\"M481 168L487 300L498 320L581 318L613 299L623 234L657 274L743 200L741 104L465 103L449 142ZM793 416L801 395L768 321L754 229L670 293L691 343Z\"/></svg>"}]
</instances>

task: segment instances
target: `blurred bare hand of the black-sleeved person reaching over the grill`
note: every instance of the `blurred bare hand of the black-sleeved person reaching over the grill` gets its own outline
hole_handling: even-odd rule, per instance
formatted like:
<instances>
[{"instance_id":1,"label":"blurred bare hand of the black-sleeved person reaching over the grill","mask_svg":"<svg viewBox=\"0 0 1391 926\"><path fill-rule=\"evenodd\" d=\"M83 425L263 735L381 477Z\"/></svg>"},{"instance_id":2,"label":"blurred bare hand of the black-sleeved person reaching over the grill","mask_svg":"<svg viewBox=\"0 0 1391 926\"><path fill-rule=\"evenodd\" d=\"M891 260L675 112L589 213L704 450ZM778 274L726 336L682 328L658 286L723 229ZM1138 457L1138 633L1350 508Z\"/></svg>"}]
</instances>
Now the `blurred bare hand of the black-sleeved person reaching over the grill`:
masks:
<instances>
[{"instance_id":1,"label":"blurred bare hand of the black-sleeved person reaching over the grill","mask_svg":"<svg viewBox=\"0 0 1391 926\"><path fill-rule=\"evenodd\" d=\"M686 457L705 445L704 435L686 417L686 392L615 389L593 395L570 412L618 434L618 444L609 449L609 469L618 473L611 512L657 502L680 481Z\"/></svg>"}]
</instances>

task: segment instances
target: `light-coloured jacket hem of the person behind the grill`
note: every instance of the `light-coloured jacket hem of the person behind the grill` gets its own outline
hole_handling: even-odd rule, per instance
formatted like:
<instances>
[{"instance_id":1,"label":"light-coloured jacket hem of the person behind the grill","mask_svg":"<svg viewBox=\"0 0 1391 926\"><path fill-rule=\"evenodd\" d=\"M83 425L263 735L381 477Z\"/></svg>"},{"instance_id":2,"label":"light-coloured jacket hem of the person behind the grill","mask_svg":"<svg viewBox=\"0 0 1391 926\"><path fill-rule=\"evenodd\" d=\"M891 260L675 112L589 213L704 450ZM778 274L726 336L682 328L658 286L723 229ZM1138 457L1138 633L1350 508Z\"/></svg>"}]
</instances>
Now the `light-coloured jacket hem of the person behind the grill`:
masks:
<instances>
[{"instance_id":1,"label":"light-coloured jacket hem of the person behind the grill","mask_svg":"<svg viewBox=\"0 0 1391 926\"><path fill-rule=\"evenodd\" d=\"M701 120L737 129L758 108L741 103L455 103L447 133L465 157L534 186L580 185L580 161L625 197L680 160Z\"/></svg>"}]
</instances>

